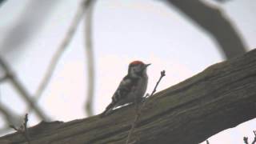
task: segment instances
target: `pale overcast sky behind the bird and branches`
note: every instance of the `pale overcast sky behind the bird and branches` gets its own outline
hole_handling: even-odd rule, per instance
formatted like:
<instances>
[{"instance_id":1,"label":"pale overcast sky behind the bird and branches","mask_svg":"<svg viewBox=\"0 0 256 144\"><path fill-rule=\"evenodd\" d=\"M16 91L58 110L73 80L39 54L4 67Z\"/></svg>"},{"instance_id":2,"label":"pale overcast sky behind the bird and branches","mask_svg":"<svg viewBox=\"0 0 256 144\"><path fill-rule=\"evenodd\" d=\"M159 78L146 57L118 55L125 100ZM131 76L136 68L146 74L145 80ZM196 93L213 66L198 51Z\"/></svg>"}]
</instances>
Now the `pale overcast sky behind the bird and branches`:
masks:
<instances>
[{"instance_id":1,"label":"pale overcast sky behind the bird and branches","mask_svg":"<svg viewBox=\"0 0 256 144\"><path fill-rule=\"evenodd\" d=\"M31 94L34 94L51 56L66 34L78 2L9 0L0 7L1 54L4 54ZM256 1L230 0L222 4L212 0L207 2L220 6L223 13L234 22L248 50L256 47ZM26 33L20 27L24 23L19 22L27 22L33 34L28 39L19 38L24 42L13 49L3 48L13 46L5 44L6 35L10 32ZM58 62L54 78L39 101L39 105L53 120L70 121L86 117L83 27L84 22L79 25L72 42ZM207 66L223 60L218 46L209 35L162 1L99 1L95 7L93 32L96 62L94 110L97 114L110 102L114 90L127 72L129 62L134 59L152 63L148 70L148 91L153 89L161 70L166 70L166 78L158 90L190 78ZM24 114L25 103L11 86L1 84L0 89L1 104L10 106L17 114ZM30 126L37 123L38 118L30 114ZM3 124L3 119L0 119L0 126ZM256 121L252 120L214 135L210 138L210 144L241 144L243 136L254 138L254 129Z\"/></svg>"}]
</instances>

